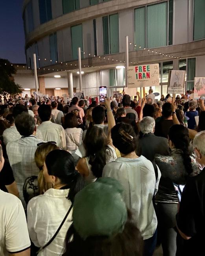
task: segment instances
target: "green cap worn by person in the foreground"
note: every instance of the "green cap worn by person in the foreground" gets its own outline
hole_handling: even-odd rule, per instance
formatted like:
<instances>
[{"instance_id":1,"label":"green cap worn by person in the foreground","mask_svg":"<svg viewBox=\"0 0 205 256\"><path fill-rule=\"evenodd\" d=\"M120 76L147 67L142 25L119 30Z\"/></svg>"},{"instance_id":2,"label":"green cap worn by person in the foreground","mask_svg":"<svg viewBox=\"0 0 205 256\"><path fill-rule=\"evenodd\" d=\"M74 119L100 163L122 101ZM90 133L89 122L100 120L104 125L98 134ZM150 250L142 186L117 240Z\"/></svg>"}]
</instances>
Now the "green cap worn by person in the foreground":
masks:
<instances>
[{"instance_id":1,"label":"green cap worn by person in the foreground","mask_svg":"<svg viewBox=\"0 0 205 256\"><path fill-rule=\"evenodd\" d=\"M99 178L76 195L73 225L82 239L89 236L113 236L124 230L127 208L123 188L113 178Z\"/></svg>"}]
</instances>

